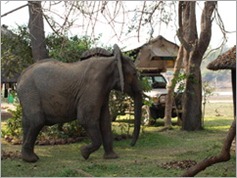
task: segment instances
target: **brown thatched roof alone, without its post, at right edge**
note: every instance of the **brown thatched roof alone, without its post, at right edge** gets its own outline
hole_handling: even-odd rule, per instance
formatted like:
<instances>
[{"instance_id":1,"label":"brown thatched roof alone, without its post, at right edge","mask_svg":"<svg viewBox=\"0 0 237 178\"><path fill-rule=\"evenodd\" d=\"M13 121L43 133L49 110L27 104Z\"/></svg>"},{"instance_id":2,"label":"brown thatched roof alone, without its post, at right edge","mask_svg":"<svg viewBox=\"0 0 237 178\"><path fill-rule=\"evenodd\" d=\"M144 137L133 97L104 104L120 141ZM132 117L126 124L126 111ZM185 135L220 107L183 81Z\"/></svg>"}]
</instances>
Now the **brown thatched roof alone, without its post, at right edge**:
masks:
<instances>
[{"instance_id":1,"label":"brown thatched roof alone, without its post, at right edge","mask_svg":"<svg viewBox=\"0 0 237 178\"><path fill-rule=\"evenodd\" d=\"M236 45L207 65L210 70L236 69Z\"/></svg>"}]
</instances>

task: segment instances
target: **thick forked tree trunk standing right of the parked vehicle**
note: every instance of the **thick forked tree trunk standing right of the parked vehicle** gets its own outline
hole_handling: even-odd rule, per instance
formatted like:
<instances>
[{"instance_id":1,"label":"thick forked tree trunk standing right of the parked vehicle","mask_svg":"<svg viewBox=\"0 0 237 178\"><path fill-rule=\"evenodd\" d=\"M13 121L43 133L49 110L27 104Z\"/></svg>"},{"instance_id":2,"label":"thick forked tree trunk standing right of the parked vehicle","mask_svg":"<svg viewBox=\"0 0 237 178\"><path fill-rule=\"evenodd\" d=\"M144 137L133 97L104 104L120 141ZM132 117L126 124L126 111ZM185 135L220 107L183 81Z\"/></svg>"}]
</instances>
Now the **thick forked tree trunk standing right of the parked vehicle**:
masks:
<instances>
[{"instance_id":1,"label":"thick forked tree trunk standing right of the parked vehicle","mask_svg":"<svg viewBox=\"0 0 237 178\"><path fill-rule=\"evenodd\" d=\"M202 80L200 65L211 39L212 13L215 1L205 2L201 17L201 33L198 39L196 28L196 2L182 3L183 29L180 31L181 43L185 47L186 85L183 103L182 129L187 131L202 129Z\"/></svg>"}]
</instances>

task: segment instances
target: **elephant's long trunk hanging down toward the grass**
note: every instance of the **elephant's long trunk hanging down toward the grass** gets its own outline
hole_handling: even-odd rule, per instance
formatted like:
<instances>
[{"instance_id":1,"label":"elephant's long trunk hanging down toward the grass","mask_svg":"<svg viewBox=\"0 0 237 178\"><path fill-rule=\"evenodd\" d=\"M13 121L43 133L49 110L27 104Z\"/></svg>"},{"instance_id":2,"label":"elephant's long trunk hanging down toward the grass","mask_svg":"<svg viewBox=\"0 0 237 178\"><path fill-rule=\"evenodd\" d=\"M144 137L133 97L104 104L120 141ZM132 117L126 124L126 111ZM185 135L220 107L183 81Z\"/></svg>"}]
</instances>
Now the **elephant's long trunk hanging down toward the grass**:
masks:
<instances>
[{"instance_id":1,"label":"elephant's long trunk hanging down toward the grass","mask_svg":"<svg viewBox=\"0 0 237 178\"><path fill-rule=\"evenodd\" d=\"M134 146L136 144L136 141L140 133L141 115L142 115L142 112L141 112L142 111L142 95L140 92L134 96L134 111L135 111L134 131L133 131L131 146Z\"/></svg>"}]
</instances>

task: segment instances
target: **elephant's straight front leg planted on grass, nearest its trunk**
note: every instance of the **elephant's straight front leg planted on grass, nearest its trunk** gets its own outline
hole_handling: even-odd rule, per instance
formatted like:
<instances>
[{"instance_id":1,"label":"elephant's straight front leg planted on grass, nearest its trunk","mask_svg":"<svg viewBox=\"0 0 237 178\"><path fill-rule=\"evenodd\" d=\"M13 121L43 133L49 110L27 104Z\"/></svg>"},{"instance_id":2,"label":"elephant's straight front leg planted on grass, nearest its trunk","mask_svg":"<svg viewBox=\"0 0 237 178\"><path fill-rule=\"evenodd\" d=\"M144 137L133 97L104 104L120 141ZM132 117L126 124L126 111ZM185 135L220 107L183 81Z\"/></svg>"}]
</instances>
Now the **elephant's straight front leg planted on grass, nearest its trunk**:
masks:
<instances>
[{"instance_id":1,"label":"elephant's straight front leg planted on grass, nearest its trunk","mask_svg":"<svg viewBox=\"0 0 237 178\"><path fill-rule=\"evenodd\" d=\"M113 151L113 133L111 129L111 116L109 112L108 102L106 102L101 110L100 129L104 146L104 158L115 159L118 155Z\"/></svg>"}]
</instances>

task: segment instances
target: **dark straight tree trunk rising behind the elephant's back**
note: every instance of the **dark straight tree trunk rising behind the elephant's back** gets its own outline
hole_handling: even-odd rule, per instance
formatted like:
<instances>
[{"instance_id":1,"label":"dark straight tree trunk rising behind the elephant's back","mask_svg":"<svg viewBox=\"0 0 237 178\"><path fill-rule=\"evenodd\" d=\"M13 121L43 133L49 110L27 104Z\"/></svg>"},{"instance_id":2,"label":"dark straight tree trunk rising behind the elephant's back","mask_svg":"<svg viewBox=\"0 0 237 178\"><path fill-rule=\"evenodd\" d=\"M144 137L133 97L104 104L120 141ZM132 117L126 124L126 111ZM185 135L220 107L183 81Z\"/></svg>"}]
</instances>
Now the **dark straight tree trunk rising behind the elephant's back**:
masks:
<instances>
[{"instance_id":1,"label":"dark straight tree trunk rising behind the elephant's back","mask_svg":"<svg viewBox=\"0 0 237 178\"><path fill-rule=\"evenodd\" d=\"M35 61L48 58L41 1L28 1L32 56Z\"/></svg>"}]
</instances>

